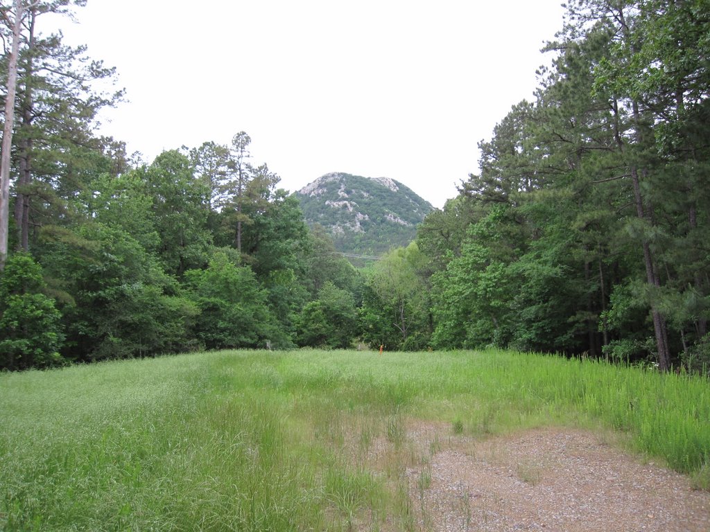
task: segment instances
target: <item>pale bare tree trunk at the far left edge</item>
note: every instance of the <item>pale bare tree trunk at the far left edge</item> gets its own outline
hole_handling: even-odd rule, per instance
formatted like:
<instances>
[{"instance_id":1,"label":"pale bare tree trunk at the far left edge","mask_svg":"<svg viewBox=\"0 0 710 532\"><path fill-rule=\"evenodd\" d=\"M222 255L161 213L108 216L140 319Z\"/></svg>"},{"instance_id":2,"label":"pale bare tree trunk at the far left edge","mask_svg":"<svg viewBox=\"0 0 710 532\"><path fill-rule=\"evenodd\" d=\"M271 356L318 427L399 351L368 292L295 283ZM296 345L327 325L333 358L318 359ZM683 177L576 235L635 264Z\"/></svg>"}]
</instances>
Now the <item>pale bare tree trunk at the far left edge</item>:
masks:
<instances>
[{"instance_id":1,"label":"pale bare tree trunk at the far left edge","mask_svg":"<svg viewBox=\"0 0 710 532\"><path fill-rule=\"evenodd\" d=\"M17 56L20 51L20 31L23 17L22 0L15 1L15 20L12 25L12 48L7 67L7 95L5 97L5 126L0 155L0 272L5 270L10 222L10 152L15 124L15 94L17 92Z\"/></svg>"}]
</instances>

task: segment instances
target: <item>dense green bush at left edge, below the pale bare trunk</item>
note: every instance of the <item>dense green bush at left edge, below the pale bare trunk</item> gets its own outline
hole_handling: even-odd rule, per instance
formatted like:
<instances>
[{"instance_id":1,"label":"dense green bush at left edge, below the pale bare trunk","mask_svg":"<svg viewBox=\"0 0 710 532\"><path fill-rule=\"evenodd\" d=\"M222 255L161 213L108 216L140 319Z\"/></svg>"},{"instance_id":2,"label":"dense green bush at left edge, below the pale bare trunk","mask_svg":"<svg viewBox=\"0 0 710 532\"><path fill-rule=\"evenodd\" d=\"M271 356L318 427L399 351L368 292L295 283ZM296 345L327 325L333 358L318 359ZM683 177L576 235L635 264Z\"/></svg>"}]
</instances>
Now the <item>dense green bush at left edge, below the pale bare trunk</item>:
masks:
<instances>
[{"instance_id":1,"label":"dense green bush at left edge, below the pale bare trunk","mask_svg":"<svg viewBox=\"0 0 710 532\"><path fill-rule=\"evenodd\" d=\"M40 266L30 255L10 255L0 274L0 369L61 365L64 335L53 299L42 293Z\"/></svg>"}]
</instances>

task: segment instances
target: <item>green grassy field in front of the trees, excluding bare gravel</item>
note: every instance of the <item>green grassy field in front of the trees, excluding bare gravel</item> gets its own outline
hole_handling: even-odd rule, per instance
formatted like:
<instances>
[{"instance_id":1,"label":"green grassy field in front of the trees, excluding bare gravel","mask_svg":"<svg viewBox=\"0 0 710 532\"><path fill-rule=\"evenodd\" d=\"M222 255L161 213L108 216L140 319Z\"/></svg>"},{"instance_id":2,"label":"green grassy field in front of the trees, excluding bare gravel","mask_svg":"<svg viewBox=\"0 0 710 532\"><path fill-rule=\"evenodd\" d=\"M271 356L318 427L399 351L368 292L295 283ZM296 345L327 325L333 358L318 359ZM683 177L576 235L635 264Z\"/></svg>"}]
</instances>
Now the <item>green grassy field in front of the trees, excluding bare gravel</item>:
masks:
<instances>
[{"instance_id":1,"label":"green grassy field in front of the trees, excluding bare gravel","mask_svg":"<svg viewBox=\"0 0 710 532\"><path fill-rule=\"evenodd\" d=\"M413 420L611 428L710 487L699 377L498 350L198 353L0 375L0 530L411 530ZM374 469L378 440L395 452Z\"/></svg>"}]
</instances>

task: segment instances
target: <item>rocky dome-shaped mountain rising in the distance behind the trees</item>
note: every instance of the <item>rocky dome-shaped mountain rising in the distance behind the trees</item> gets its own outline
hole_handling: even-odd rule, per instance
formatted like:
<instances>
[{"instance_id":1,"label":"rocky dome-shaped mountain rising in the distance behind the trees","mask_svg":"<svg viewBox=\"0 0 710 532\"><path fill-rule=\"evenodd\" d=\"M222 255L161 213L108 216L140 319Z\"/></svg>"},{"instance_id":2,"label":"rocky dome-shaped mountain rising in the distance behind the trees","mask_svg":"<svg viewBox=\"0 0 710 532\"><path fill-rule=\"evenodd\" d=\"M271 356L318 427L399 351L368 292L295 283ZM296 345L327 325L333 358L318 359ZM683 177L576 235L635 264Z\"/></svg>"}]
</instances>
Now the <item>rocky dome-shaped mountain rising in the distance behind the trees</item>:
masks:
<instances>
[{"instance_id":1,"label":"rocky dome-shaped mountain rising in the distance behind the trees","mask_svg":"<svg viewBox=\"0 0 710 532\"><path fill-rule=\"evenodd\" d=\"M388 177L333 172L295 193L307 223L319 223L344 253L380 255L408 245L432 206Z\"/></svg>"}]
</instances>

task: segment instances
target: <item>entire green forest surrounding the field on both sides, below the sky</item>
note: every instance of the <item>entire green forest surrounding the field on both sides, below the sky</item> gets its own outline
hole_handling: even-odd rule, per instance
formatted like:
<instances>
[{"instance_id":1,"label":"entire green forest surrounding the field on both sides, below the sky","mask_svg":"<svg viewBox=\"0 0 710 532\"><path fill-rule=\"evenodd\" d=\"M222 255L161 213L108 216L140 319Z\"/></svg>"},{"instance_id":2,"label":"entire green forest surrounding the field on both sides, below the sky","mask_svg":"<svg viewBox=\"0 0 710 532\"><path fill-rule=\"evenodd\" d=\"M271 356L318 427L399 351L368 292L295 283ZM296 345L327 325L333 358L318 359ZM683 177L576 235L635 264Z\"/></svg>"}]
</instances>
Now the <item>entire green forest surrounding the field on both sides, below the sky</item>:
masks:
<instances>
[{"instance_id":1,"label":"entire green forest surrounding the field on both sides, below the sky","mask_svg":"<svg viewBox=\"0 0 710 532\"><path fill-rule=\"evenodd\" d=\"M123 94L91 81L114 71L35 30L68 4L14 25L2 8L0 367L358 342L710 360L705 1L569 1L535 99L481 141L479 172L361 270L246 133L150 164L97 136Z\"/></svg>"}]
</instances>

